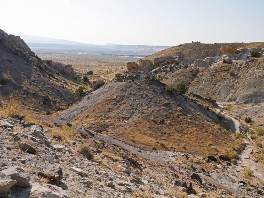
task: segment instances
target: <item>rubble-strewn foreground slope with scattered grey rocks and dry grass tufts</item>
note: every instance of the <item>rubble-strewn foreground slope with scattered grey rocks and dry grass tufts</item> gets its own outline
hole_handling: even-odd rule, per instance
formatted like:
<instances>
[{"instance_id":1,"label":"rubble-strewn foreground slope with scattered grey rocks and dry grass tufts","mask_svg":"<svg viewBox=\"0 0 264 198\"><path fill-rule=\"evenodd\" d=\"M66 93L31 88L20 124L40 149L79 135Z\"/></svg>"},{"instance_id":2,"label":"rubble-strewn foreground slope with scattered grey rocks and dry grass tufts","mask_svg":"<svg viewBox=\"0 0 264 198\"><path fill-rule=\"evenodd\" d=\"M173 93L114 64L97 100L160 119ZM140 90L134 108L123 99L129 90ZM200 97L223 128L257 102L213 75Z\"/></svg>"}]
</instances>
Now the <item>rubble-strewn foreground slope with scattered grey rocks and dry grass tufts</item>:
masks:
<instances>
[{"instance_id":1,"label":"rubble-strewn foreground slope with scattered grey rocks and dry grass tufts","mask_svg":"<svg viewBox=\"0 0 264 198\"><path fill-rule=\"evenodd\" d=\"M59 126L36 121L44 128L16 118L0 118L2 197L264 195L264 185L257 178L243 178L243 166L230 163L227 156L152 151L166 161L155 162L79 135L69 123Z\"/></svg>"}]
</instances>

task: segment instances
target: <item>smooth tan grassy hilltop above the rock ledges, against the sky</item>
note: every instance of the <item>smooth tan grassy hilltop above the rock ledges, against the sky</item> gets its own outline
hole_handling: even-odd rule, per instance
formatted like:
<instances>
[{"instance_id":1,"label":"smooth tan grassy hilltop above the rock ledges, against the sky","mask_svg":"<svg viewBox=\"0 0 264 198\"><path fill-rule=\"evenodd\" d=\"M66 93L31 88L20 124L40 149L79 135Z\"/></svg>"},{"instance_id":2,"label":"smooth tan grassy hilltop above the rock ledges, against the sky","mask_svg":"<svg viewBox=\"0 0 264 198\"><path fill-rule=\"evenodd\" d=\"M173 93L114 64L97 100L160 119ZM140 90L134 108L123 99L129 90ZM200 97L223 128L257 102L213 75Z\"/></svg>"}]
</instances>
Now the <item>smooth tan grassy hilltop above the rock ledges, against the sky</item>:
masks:
<instances>
[{"instance_id":1,"label":"smooth tan grassy hilltop above the rock ledges, against the sky","mask_svg":"<svg viewBox=\"0 0 264 198\"><path fill-rule=\"evenodd\" d=\"M144 59L149 59L153 62L154 58L162 56L176 56L177 52L182 52L185 58L206 58L222 56L223 53L220 52L220 47L224 44L235 45L237 48L250 48L250 47L260 47L264 48L264 42L254 42L254 43L185 43L180 44L168 49L162 50L155 54L146 56Z\"/></svg>"}]
</instances>

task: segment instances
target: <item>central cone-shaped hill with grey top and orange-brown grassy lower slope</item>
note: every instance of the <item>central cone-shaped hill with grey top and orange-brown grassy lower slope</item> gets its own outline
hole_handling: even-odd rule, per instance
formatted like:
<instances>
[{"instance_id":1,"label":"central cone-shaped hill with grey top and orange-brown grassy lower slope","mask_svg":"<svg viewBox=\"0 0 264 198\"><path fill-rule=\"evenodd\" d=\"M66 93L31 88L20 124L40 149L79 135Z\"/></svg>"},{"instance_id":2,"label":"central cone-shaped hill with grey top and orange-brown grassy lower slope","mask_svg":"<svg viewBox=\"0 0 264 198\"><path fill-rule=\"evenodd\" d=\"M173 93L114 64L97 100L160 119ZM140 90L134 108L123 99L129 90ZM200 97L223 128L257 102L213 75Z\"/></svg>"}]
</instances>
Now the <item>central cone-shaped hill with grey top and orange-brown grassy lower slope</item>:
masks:
<instances>
[{"instance_id":1,"label":"central cone-shaped hill with grey top and orange-brown grassy lower slope","mask_svg":"<svg viewBox=\"0 0 264 198\"><path fill-rule=\"evenodd\" d=\"M228 120L221 120L196 100L176 91L170 94L165 89L166 85L151 75L127 72L58 116L143 149L154 146L162 150L216 153L236 141L217 129L219 123L226 129L232 128Z\"/></svg>"}]
</instances>

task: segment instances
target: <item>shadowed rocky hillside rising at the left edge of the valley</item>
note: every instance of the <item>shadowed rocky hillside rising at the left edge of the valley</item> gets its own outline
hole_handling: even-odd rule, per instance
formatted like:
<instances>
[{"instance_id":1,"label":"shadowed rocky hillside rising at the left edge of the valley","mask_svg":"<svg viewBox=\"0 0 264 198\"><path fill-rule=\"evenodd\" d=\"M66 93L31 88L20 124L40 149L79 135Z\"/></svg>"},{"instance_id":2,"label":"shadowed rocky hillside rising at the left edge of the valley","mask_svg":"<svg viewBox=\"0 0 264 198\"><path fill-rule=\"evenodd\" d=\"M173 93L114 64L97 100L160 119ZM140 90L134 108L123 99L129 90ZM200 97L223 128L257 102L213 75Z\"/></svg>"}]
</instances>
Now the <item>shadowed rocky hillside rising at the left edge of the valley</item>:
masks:
<instances>
[{"instance_id":1,"label":"shadowed rocky hillside rising at the left edge of the valley","mask_svg":"<svg viewBox=\"0 0 264 198\"><path fill-rule=\"evenodd\" d=\"M12 96L36 112L64 109L80 84L71 65L41 60L19 36L3 30L0 65L1 99Z\"/></svg>"}]
</instances>

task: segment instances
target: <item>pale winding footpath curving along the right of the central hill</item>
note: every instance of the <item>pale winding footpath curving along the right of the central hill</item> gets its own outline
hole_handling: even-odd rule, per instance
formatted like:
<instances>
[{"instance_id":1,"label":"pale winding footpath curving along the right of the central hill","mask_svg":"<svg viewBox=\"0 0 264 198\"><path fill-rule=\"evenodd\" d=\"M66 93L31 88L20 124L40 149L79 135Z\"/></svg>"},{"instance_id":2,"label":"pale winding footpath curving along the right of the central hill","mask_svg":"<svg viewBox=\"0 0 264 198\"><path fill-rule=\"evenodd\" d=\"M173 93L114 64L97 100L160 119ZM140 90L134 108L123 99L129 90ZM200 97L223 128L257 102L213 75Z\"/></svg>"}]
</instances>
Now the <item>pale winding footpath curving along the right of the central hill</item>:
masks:
<instances>
[{"instance_id":1,"label":"pale winding footpath curving along the right of the central hill","mask_svg":"<svg viewBox=\"0 0 264 198\"><path fill-rule=\"evenodd\" d=\"M219 107L223 108L223 106L219 105ZM220 109L219 109L220 111ZM236 133L240 133L240 122L229 116L228 114L225 114L225 116L231 118L233 121L234 121L234 125L235 125L235 128L236 128ZM238 158L238 161L241 162L241 164L247 168L250 168L250 170L252 170L255 174L255 176L259 179L262 179L264 180L264 176L261 174L260 171L257 170L257 168L253 165L251 165L248 160L250 159L250 154L251 152L253 151L253 145L246 139L243 140L246 144L246 148L245 150L240 154L239 158Z\"/></svg>"}]
</instances>

